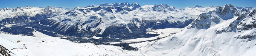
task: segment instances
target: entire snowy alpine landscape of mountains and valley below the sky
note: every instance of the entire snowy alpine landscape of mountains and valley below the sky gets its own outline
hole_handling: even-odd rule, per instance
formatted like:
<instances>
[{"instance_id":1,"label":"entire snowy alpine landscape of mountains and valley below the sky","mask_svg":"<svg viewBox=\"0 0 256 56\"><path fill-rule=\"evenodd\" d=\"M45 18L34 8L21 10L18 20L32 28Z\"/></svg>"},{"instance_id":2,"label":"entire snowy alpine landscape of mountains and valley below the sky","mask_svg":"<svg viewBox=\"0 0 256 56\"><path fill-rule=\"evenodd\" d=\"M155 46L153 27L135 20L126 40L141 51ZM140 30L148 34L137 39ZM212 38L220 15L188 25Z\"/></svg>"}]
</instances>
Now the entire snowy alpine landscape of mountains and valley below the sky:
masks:
<instances>
[{"instance_id":1,"label":"entire snowy alpine landscape of mountains and valley below the sky","mask_svg":"<svg viewBox=\"0 0 256 56\"><path fill-rule=\"evenodd\" d=\"M0 56L255 56L256 8L0 8Z\"/></svg>"}]
</instances>

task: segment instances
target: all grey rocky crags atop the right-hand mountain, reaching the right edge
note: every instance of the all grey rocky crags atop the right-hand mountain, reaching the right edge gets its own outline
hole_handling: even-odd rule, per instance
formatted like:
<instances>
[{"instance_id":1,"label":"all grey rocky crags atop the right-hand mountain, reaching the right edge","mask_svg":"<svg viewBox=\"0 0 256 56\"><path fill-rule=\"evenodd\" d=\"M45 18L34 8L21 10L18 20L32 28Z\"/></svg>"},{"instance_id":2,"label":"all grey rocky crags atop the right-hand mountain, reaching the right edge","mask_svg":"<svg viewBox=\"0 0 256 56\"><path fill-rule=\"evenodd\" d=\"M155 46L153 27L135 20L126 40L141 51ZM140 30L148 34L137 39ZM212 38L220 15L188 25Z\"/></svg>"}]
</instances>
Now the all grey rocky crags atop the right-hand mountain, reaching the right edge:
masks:
<instances>
[{"instance_id":1,"label":"all grey rocky crags atop the right-hand mountain, reaching the right edge","mask_svg":"<svg viewBox=\"0 0 256 56\"><path fill-rule=\"evenodd\" d=\"M186 28L208 29L211 27L212 22L218 24L221 21L230 21L231 23L222 28L215 29L216 34L224 32L249 32L249 34L239 35L235 38L247 41L255 40L256 10L246 8L238 10L233 5L220 6L215 11L202 13Z\"/></svg>"}]
</instances>

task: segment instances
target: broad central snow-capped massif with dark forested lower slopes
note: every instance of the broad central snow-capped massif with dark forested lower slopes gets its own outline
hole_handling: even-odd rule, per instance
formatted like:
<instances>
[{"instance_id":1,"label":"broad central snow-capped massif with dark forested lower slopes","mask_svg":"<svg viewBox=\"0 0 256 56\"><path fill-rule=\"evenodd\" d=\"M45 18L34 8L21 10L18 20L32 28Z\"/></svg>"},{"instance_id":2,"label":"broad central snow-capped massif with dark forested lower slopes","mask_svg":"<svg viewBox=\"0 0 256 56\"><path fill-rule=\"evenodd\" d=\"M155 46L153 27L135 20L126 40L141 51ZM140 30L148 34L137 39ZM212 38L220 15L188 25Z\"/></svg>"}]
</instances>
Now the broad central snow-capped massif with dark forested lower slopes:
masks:
<instances>
[{"instance_id":1,"label":"broad central snow-capped massif with dark forested lower slopes","mask_svg":"<svg viewBox=\"0 0 256 56\"><path fill-rule=\"evenodd\" d=\"M146 29L183 28L196 17L166 4L140 6L138 3L102 3L76 7L48 19L1 30L29 36L33 36L32 32L36 30L75 41L78 41L76 37L87 39L96 36L102 37L102 42L110 42L154 37L157 35L147 34Z\"/></svg>"}]
</instances>

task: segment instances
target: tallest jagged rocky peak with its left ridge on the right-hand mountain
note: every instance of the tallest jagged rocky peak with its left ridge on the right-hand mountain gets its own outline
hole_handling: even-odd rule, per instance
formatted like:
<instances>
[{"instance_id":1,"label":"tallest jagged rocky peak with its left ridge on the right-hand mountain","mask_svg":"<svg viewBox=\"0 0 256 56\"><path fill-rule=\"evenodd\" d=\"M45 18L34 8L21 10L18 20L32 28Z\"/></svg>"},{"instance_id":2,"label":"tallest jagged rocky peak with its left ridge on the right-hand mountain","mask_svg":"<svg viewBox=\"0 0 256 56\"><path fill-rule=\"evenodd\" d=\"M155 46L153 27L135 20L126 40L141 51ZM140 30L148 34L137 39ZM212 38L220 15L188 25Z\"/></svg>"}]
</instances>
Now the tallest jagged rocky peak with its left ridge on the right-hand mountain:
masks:
<instances>
[{"instance_id":1,"label":"tallest jagged rocky peak with its left ridge on the right-hand mountain","mask_svg":"<svg viewBox=\"0 0 256 56\"><path fill-rule=\"evenodd\" d=\"M211 27L212 22L219 24L221 20L228 20L239 16L238 11L233 5L224 5L218 7L215 11L209 11L207 13L201 13L197 19L195 19L188 28L208 29Z\"/></svg>"}]
</instances>

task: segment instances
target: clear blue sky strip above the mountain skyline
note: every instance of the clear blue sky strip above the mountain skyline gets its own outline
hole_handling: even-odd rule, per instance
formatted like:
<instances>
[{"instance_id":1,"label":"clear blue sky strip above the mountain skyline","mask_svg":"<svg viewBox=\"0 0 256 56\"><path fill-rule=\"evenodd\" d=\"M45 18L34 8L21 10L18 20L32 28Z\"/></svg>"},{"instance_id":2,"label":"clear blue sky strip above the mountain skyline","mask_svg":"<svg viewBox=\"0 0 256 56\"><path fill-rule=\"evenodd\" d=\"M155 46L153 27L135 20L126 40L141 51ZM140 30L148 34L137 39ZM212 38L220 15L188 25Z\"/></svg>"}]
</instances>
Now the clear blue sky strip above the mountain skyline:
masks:
<instances>
[{"instance_id":1,"label":"clear blue sky strip above the mountain skyline","mask_svg":"<svg viewBox=\"0 0 256 56\"><path fill-rule=\"evenodd\" d=\"M87 5L98 5L101 3L134 3L143 5L167 4L175 8L184 9L185 7L194 7L201 5L203 7L215 5L232 4L239 7L256 7L256 0L0 0L0 8L16 8L16 7L84 7Z\"/></svg>"}]
</instances>

